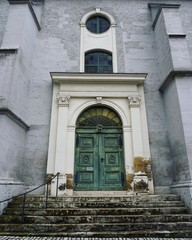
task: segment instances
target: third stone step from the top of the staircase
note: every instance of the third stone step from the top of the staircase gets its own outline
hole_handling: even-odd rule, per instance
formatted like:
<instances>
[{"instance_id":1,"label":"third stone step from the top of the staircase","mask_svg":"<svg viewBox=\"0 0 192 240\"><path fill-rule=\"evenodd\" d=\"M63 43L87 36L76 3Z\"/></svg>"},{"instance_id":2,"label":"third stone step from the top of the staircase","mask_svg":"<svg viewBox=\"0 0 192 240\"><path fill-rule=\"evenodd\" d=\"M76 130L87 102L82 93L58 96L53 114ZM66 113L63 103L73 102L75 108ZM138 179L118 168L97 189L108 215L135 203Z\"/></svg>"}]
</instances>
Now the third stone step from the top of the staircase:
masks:
<instances>
[{"instance_id":1,"label":"third stone step from the top of the staircase","mask_svg":"<svg viewBox=\"0 0 192 240\"><path fill-rule=\"evenodd\" d=\"M22 209L6 208L4 214L20 215ZM186 207L162 207L162 208L25 208L26 215L58 215L58 216L83 216L83 215L142 215L142 214L185 214Z\"/></svg>"}]
</instances>

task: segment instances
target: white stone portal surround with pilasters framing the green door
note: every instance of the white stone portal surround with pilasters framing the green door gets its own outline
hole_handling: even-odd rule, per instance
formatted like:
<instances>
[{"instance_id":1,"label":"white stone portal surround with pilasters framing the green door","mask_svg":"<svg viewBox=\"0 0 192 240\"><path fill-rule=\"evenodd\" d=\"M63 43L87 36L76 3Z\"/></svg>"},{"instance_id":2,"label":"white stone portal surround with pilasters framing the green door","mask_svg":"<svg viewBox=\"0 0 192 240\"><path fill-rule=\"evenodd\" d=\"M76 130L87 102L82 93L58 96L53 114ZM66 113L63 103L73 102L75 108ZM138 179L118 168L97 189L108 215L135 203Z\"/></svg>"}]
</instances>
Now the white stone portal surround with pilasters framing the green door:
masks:
<instances>
[{"instance_id":1,"label":"white stone portal surround with pilasters framing the green door","mask_svg":"<svg viewBox=\"0 0 192 240\"><path fill-rule=\"evenodd\" d=\"M73 176L76 121L97 104L112 108L122 121L126 174L134 158L150 159L143 83L146 74L51 73L53 100L47 174ZM137 175L137 179L140 176ZM52 187L55 192L55 185Z\"/></svg>"}]
</instances>

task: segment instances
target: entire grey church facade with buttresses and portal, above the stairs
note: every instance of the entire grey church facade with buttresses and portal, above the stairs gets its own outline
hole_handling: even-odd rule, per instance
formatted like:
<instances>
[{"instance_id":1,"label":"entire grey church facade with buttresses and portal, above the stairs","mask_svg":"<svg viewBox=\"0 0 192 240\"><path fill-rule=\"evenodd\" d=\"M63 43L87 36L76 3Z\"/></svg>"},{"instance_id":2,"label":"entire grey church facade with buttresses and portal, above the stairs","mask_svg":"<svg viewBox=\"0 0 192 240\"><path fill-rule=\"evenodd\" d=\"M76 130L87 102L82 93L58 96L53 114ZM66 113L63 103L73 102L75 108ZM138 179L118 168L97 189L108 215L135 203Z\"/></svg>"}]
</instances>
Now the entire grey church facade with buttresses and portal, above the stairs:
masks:
<instances>
[{"instance_id":1,"label":"entire grey church facade with buttresses and portal, above the stairs","mask_svg":"<svg viewBox=\"0 0 192 240\"><path fill-rule=\"evenodd\" d=\"M0 2L0 200L60 173L59 195L177 193L192 208L191 8Z\"/></svg>"}]
</instances>

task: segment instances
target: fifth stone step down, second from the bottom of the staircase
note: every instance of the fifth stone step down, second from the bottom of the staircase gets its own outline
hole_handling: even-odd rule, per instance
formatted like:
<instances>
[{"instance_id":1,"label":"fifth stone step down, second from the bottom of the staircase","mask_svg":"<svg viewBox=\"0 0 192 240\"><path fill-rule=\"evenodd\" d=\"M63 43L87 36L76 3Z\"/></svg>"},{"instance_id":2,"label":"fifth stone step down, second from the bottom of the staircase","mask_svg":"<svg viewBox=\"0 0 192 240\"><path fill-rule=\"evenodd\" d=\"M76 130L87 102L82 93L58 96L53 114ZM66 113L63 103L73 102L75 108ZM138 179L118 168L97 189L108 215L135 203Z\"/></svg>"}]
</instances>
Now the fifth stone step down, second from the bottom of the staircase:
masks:
<instances>
[{"instance_id":1,"label":"fifth stone step down, second from the bottom of the staircase","mask_svg":"<svg viewBox=\"0 0 192 240\"><path fill-rule=\"evenodd\" d=\"M0 232L106 232L106 231L185 231L191 229L192 222L172 223L86 223L86 224L1 224Z\"/></svg>"}]
</instances>

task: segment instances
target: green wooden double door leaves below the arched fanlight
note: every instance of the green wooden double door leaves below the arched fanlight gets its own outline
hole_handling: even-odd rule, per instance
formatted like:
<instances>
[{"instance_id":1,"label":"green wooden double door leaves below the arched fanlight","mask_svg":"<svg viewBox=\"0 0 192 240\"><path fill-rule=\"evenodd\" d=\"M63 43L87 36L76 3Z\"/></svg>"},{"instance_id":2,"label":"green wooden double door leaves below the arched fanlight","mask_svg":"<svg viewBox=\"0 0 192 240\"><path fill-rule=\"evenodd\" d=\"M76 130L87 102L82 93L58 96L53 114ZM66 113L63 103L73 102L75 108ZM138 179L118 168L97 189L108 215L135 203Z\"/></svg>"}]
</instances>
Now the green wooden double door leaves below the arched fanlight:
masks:
<instances>
[{"instance_id":1,"label":"green wooden double door leaves below the arched fanlight","mask_svg":"<svg viewBox=\"0 0 192 240\"><path fill-rule=\"evenodd\" d=\"M75 190L118 191L124 188L122 133L118 129L76 132Z\"/></svg>"}]
</instances>

